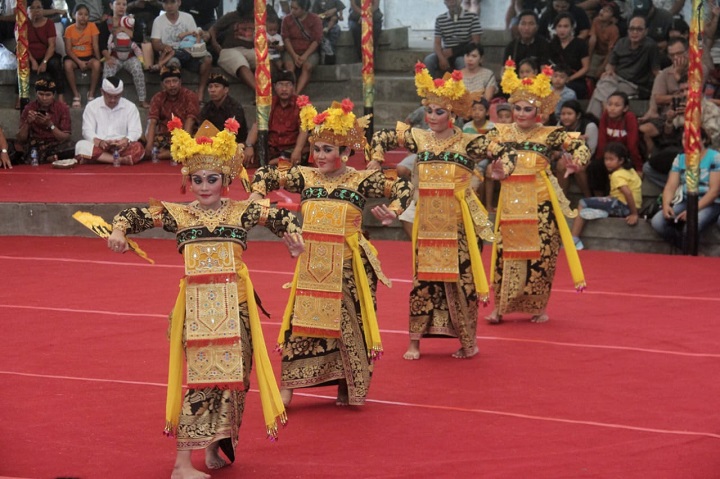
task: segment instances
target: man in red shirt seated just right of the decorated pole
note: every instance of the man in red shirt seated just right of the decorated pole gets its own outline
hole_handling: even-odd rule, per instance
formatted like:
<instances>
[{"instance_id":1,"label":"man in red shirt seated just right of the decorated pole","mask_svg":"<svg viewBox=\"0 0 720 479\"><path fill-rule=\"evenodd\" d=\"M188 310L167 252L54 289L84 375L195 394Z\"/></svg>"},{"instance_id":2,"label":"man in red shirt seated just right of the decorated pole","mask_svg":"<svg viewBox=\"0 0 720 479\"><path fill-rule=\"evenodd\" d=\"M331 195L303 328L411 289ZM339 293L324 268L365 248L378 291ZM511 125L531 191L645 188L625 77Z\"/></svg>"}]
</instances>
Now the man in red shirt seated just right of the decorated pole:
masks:
<instances>
[{"instance_id":1,"label":"man in red shirt seated just right of the decorated pole","mask_svg":"<svg viewBox=\"0 0 720 479\"><path fill-rule=\"evenodd\" d=\"M273 78L273 92L268 119L269 163L277 164L279 158L284 157L294 165L307 164L308 132L300 129L300 107L297 106L295 94L295 75L287 70L278 72ZM248 133L245 144L246 166L258 166L255 161L257 139L258 127L255 123Z\"/></svg>"}]
</instances>

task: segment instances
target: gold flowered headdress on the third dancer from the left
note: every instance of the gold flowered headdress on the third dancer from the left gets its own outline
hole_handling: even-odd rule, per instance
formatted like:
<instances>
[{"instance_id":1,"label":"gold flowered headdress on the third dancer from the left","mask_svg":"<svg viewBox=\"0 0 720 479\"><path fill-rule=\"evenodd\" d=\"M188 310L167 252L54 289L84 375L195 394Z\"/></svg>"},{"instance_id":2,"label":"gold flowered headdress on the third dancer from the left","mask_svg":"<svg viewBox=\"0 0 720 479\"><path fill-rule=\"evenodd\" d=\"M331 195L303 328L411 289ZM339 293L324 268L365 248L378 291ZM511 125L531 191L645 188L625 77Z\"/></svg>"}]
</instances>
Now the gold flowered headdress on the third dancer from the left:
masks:
<instances>
[{"instance_id":1,"label":"gold flowered headdress on the third dancer from the left","mask_svg":"<svg viewBox=\"0 0 720 479\"><path fill-rule=\"evenodd\" d=\"M415 64L415 87L418 96L427 106L431 103L442 105L461 118L468 118L472 111L472 98L465 88L462 72L455 70L442 78L433 79L422 62Z\"/></svg>"}]
</instances>

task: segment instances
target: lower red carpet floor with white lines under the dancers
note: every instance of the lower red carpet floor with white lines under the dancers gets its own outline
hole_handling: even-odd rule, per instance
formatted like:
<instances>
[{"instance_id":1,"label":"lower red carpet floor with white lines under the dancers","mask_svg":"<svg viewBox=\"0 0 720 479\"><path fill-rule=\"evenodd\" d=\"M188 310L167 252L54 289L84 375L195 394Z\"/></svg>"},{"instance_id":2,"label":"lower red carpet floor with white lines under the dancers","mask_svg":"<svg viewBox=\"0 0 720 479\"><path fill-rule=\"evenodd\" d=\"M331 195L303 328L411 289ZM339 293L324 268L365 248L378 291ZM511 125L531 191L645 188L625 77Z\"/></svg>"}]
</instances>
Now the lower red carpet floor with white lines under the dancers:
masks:
<instances>
[{"instance_id":1,"label":"lower red carpet floor with white lines under the dancers","mask_svg":"<svg viewBox=\"0 0 720 479\"><path fill-rule=\"evenodd\" d=\"M0 476L169 477L165 333L182 266L172 242L140 244L156 265L97 239L0 237ZM589 289L560 261L549 323L481 321L476 358L431 339L408 362L409 244L377 246L394 287L378 296L386 354L368 404L299 391L272 444L253 390L238 460L214 478L720 477L720 259L583 251ZM273 346L292 263L275 242L247 262Z\"/></svg>"}]
</instances>

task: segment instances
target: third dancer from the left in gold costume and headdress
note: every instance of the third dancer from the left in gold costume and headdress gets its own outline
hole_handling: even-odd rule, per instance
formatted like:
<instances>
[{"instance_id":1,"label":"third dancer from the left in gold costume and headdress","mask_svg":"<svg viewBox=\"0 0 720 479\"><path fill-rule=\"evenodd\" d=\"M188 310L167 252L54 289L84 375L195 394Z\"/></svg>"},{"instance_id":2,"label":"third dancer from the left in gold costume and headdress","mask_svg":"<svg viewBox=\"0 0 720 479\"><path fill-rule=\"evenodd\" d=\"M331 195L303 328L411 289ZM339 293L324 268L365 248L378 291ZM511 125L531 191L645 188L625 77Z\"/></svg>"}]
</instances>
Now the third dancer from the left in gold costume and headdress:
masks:
<instances>
[{"instance_id":1,"label":"third dancer from the left in gold costume and headdress","mask_svg":"<svg viewBox=\"0 0 720 479\"><path fill-rule=\"evenodd\" d=\"M483 135L463 133L454 126L455 115L467 117L472 103L459 71L433 81L425 65L418 63L415 85L423 97L430 130L398 123L395 130L377 132L372 145L376 162L397 146L417 153L410 345L403 357L419 359L420 338L440 335L459 338L461 347L453 357L469 358L478 353L478 301L488 299L478 237L493 240L487 211L470 187L470 179L475 163L486 155L497 160L498 178L509 174L514 153Z\"/></svg>"}]
</instances>

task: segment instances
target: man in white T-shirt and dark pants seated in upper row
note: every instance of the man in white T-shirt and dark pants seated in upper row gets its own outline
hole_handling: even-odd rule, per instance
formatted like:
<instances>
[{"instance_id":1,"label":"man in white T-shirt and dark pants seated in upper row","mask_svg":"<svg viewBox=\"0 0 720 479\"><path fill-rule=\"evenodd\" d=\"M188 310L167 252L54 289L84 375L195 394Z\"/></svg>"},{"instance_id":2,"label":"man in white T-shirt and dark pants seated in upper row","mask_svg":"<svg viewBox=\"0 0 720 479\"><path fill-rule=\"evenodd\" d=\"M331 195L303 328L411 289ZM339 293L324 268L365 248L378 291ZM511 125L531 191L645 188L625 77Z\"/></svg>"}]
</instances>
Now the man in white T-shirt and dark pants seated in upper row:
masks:
<instances>
[{"instance_id":1,"label":"man in white T-shirt and dark pants seated in upper row","mask_svg":"<svg viewBox=\"0 0 720 479\"><path fill-rule=\"evenodd\" d=\"M153 21L151 34L153 50L159 55L173 52L174 58L168 62L168 65L182 67L199 74L197 96L202 101L212 68L212 56L208 51L191 54L181 47L180 42L189 35L200 36L202 33L203 40L209 39L209 36L198 30L192 15L181 12L179 7L180 0L163 0L165 15L160 15Z\"/></svg>"}]
</instances>

